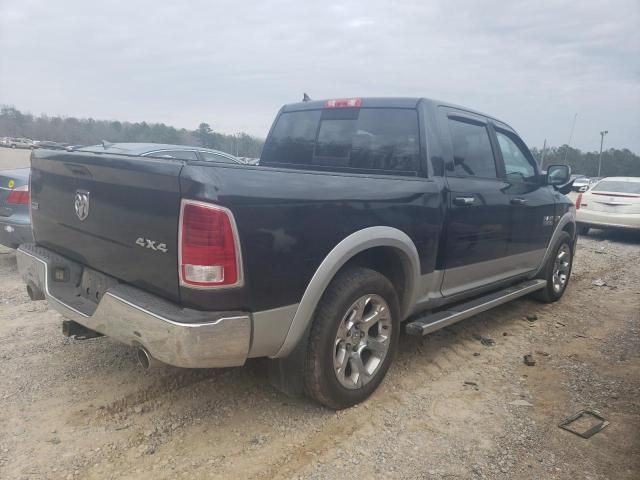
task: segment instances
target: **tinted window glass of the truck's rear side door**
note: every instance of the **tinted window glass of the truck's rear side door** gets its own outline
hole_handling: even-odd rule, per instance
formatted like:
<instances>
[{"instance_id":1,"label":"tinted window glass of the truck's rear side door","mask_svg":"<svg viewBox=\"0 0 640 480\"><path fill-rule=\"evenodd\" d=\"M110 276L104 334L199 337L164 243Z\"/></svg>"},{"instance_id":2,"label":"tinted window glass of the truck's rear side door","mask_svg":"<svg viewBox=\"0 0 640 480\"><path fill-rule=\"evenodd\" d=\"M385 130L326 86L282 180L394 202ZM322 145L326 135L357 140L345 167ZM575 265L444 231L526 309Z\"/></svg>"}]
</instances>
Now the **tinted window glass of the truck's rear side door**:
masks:
<instances>
[{"instance_id":1,"label":"tinted window glass of the truck's rear side door","mask_svg":"<svg viewBox=\"0 0 640 480\"><path fill-rule=\"evenodd\" d=\"M453 165L448 176L497 178L496 162L486 125L449 119Z\"/></svg>"}]
</instances>

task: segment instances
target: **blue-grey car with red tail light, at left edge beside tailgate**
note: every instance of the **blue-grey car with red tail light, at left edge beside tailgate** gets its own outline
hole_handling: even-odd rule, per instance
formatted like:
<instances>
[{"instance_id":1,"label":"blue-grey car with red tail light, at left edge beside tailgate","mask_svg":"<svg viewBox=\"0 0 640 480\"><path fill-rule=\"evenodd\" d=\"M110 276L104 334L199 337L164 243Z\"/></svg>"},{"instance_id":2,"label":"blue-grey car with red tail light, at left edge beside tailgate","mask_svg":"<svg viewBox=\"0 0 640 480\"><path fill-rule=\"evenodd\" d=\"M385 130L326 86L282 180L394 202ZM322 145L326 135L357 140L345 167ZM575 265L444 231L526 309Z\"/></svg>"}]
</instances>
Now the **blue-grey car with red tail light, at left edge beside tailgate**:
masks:
<instances>
[{"instance_id":1,"label":"blue-grey car with red tail light, at left edge beside tailgate","mask_svg":"<svg viewBox=\"0 0 640 480\"><path fill-rule=\"evenodd\" d=\"M29 169L0 170L0 244L33 242L29 221Z\"/></svg>"}]
</instances>

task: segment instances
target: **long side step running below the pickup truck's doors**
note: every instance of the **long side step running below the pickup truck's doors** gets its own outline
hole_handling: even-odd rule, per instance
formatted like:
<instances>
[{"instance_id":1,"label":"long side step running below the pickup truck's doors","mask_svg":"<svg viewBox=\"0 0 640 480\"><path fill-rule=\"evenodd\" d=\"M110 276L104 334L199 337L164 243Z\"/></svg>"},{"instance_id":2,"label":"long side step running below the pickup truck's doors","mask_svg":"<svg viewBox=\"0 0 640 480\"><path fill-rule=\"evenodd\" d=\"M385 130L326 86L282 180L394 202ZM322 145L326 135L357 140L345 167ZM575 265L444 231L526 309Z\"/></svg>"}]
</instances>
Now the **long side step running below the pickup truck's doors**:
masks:
<instances>
[{"instance_id":1,"label":"long side step running below the pickup truck's doors","mask_svg":"<svg viewBox=\"0 0 640 480\"><path fill-rule=\"evenodd\" d=\"M446 310L431 313L407 323L405 330L409 335L427 335L441 328L453 325L460 320L472 317L493 307L523 297L536 290L541 290L547 284L546 280L527 280L504 290L490 293L465 303L452 305Z\"/></svg>"}]
</instances>

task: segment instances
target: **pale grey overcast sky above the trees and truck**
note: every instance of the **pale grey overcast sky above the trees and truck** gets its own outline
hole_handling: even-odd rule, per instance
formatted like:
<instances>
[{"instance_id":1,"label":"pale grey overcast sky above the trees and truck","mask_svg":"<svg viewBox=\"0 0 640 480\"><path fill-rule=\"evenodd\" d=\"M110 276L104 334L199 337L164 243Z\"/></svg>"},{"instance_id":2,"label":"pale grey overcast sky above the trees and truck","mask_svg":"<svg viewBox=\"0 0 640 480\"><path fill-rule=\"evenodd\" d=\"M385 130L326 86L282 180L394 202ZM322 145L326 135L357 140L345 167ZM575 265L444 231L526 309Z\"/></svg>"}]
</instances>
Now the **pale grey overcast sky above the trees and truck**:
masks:
<instances>
[{"instance_id":1,"label":"pale grey overcast sky above the trees and truck","mask_svg":"<svg viewBox=\"0 0 640 480\"><path fill-rule=\"evenodd\" d=\"M251 5L251 6L247 6ZM0 0L0 103L264 137L311 97L426 96L530 146L640 153L640 0Z\"/></svg>"}]
</instances>

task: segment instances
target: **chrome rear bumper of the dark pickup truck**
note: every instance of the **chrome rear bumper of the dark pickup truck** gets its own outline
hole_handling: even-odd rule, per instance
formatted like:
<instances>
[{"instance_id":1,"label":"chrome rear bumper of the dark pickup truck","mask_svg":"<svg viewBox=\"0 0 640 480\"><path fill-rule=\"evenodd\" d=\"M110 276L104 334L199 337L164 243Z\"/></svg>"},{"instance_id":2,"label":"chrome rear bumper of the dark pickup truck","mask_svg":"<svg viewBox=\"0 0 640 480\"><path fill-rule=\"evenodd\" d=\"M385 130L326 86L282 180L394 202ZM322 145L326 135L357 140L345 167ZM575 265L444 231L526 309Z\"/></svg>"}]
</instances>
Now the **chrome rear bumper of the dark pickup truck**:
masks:
<instances>
[{"instance_id":1,"label":"chrome rear bumper of the dark pickup truck","mask_svg":"<svg viewBox=\"0 0 640 480\"><path fill-rule=\"evenodd\" d=\"M248 313L182 309L118 284L109 288L95 311L87 315L74 308L73 302L50 293L50 265L73 262L33 244L21 246L17 260L27 285L41 290L49 305L63 316L128 345L145 347L164 363L186 368L235 367L247 359L251 342ZM199 321L181 321L189 318Z\"/></svg>"}]
</instances>

